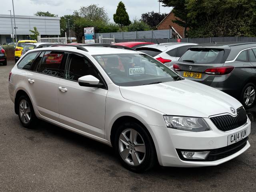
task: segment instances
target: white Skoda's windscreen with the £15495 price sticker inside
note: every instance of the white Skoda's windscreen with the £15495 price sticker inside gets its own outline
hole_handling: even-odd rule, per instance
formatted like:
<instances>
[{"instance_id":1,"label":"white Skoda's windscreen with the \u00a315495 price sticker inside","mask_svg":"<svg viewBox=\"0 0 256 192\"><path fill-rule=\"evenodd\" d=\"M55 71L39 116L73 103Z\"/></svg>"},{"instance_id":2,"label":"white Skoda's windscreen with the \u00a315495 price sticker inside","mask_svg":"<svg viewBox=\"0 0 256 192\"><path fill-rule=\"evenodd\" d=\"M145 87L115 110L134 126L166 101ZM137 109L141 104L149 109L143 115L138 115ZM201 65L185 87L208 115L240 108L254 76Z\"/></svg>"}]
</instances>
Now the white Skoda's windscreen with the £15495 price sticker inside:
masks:
<instances>
[{"instance_id":1,"label":"white Skoda's windscreen with the \u00a315495 price sticker inside","mask_svg":"<svg viewBox=\"0 0 256 192\"><path fill-rule=\"evenodd\" d=\"M164 64L145 54L104 54L93 57L118 86L140 86L182 79Z\"/></svg>"}]
</instances>

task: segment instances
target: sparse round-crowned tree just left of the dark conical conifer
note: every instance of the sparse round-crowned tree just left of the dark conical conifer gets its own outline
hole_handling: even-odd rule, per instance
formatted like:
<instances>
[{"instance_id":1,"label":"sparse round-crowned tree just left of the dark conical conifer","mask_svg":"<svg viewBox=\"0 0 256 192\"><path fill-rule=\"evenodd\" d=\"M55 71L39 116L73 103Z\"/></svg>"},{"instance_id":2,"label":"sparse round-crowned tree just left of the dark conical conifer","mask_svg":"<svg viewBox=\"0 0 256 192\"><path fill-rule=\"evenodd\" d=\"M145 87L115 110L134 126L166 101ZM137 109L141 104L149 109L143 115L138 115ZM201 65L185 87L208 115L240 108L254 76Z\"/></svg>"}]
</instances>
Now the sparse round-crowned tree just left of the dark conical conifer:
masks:
<instances>
[{"instance_id":1,"label":"sparse round-crowned tree just left of the dark conical conifer","mask_svg":"<svg viewBox=\"0 0 256 192\"><path fill-rule=\"evenodd\" d=\"M92 21L102 20L104 22L109 22L108 14L104 7L100 7L96 4L91 4L89 6L82 6L79 10L75 10L74 16L79 16Z\"/></svg>"}]
</instances>

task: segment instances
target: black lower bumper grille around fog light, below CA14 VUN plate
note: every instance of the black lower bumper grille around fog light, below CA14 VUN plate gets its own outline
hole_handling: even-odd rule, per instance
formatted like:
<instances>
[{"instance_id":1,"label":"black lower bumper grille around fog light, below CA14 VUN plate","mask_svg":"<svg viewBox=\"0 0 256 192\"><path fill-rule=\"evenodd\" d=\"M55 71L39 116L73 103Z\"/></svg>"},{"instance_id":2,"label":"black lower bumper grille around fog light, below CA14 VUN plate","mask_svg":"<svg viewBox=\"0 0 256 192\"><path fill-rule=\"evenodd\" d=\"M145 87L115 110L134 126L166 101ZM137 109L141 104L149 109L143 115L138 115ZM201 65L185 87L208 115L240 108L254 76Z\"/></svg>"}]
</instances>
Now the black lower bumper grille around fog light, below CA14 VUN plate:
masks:
<instances>
[{"instance_id":1,"label":"black lower bumper grille around fog light, below CA14 VUN plate","mask_svg":"<svg viewBox=\"0 0 256 192\"><path fill-rule=\"evenodd\" d=\"M232 154L235 154L236 152L240 151L244 146L246 146L248 137L232 144L228 145L226 147L218 148L218 149L206 149L206 150L186 150L186 149L176 149L178 156L181 160L184 161L216 161L223 158L226 158ZM200 159L186 159L182 156L182 151L210 151L206 159L200 160Z\"/></svg>"}]
</instances>

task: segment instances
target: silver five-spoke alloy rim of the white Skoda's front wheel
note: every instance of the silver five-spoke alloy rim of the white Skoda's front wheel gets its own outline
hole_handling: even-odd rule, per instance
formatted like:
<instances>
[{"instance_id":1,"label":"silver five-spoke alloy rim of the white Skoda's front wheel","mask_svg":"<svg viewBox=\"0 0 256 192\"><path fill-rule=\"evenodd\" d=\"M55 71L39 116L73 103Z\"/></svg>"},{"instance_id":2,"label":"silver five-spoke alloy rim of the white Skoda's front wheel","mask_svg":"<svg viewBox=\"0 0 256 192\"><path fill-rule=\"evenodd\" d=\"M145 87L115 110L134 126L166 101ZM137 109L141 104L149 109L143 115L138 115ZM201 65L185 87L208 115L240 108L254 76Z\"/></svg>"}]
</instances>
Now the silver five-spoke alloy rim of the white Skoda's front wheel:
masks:
<instances>
[{"instance_id":1,"label":"silver five-spoke alloy rim of the white Skoda's front wheel","mask_svg":"<svg viewBox=\"0 0 256 192\"><path fill-rule=\"evenodd\" d=\"M119 136L119 152L122 159L132 166L140 165L146 155L142 136L134 129L125 129Z\"/></svg>"}]
</instances>

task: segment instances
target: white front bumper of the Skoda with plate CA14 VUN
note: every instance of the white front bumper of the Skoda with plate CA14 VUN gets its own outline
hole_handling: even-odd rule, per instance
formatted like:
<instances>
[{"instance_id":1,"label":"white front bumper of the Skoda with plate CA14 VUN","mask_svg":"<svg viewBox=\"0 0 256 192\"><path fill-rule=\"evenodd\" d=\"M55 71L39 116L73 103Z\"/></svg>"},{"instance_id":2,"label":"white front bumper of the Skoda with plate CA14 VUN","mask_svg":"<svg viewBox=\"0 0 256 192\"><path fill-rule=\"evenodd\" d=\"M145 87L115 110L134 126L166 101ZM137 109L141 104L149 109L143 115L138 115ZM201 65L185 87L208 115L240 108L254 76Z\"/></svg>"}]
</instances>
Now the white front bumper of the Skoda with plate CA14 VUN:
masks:
<instances>
[{"instance_id":1,"label":"white front bumper of the Skoda with plate CA14 VUN","mask_svg":"<svg viewBox=\"0 0 256 192\"><path fill-rule=\"evenodd\" d=\"M184 158L178 155L179 149L188 151L210 150L216 152L221 148L228 148L228 135L239 132L245 128L248 129L248 135L251 131L251 122L249 119L243 126L228 132L218 130L209 118L205 118L205 120L212 130L205 132L189 132L160 126L150 126L150 133L156 146L160 165L175 167L214 166L239 156L250 147L249 142L246 141L237 151L232 151L229 154L225 153L223 156L213 157L212 159L208 159L208 161L207 158L203 161L184 160Z\"/></svg>"}]
</instances>

